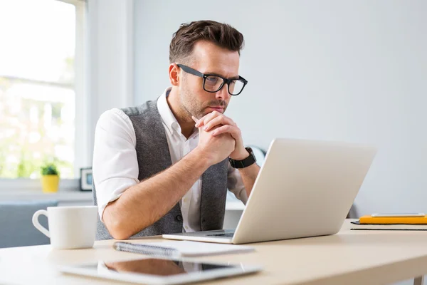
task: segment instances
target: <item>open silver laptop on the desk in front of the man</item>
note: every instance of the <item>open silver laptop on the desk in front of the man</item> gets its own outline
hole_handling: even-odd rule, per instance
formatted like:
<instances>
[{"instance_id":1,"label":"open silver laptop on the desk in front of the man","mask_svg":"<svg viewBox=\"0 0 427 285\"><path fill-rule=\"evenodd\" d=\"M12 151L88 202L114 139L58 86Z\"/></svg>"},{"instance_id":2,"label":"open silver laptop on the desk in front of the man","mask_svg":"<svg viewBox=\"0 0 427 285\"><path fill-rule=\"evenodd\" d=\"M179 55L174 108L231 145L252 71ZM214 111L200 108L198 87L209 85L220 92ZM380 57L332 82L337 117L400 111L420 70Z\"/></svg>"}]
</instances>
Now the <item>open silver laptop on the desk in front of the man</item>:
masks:
<instances>
[{"instance_id":1,"label":"open silver laptop on the desk in front of the man","mask_svg":"<svg viewBox=\"0 0 427 285\"><path fill-rule=\"evenodd\" d=\"M235 230L162 237L246 244L336 234L375 155L370 145L275 139Z\"/></svg>"}]
</instances>

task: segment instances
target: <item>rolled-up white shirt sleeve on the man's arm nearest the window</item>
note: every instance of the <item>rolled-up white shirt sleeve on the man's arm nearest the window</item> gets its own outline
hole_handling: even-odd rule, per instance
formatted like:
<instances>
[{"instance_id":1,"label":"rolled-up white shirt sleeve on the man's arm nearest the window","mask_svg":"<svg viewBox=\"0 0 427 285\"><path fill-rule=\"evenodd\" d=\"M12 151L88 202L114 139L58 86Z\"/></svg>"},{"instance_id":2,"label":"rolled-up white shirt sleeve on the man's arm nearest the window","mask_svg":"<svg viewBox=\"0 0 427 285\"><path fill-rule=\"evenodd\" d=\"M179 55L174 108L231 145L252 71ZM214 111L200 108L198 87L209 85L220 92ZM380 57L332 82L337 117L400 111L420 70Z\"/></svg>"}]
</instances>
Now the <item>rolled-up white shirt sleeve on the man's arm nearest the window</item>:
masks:
<instances>
[{"instance_id":1,"label":"rolled-up white shirt sleeve on the man's arm nearest the window","mask_svg":"<svg viewBox=\"0 0 427 285\"><path fill-rule=\"evenodd\" d=\"M93 182L101 221L107 204L139 182L135 145L132 121L122 110L102 113L93 147Z\"/></svg>"}]
</instances>

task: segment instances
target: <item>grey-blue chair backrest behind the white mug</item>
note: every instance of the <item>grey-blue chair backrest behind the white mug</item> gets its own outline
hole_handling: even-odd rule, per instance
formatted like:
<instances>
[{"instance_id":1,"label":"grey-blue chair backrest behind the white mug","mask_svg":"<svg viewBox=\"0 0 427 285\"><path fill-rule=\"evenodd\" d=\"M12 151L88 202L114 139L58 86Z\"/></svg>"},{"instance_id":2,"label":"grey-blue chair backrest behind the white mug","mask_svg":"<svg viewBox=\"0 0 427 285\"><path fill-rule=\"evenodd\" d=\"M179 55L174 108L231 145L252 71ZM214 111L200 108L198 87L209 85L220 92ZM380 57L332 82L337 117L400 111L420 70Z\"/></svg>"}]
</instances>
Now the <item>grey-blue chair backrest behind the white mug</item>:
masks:
<instances>
[{"instance_id":1,"label":"grey-blue chair backrest behind the white mug","mask_svg":"<svg viewBox=\"0 0 427 285\"><path fill-rule=\"evenodd\" d=\"M0 248L49 244L49 238L33 226L33 214L39 209L58 206L58 201L0 202ZM48 220L39 217L43 227Z\"/></svg>"}]
</instances>

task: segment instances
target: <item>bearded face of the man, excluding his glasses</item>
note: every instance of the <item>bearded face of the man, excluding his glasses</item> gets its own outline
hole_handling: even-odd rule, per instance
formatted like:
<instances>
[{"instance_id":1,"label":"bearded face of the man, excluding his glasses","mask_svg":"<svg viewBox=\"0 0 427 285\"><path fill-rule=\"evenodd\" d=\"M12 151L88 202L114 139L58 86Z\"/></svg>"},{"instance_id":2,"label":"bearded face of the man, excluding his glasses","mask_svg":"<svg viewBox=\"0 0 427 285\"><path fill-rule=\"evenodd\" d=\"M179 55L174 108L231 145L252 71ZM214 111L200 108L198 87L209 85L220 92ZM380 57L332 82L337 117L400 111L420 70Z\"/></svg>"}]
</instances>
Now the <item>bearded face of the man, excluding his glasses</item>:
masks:
<instances>
[{"instance_id":1,"label":"bearded face of the man, excluding his glasses","mask_svg":"<svg viewBox=\"0 0 427 285\"><path fill-rule=\"evenodd\" d=\"M192 61L189 67L204 74L215 74L224 78L238 77L239 55L237 51L228 51L208 41L199 41L194 45ZM203 78L181 71L183 76L179 86L181 105L189 114L201 118L214 110L224 113L231 95L228 85L216 93L203 88Z\"/></svg>"}]
</instances>

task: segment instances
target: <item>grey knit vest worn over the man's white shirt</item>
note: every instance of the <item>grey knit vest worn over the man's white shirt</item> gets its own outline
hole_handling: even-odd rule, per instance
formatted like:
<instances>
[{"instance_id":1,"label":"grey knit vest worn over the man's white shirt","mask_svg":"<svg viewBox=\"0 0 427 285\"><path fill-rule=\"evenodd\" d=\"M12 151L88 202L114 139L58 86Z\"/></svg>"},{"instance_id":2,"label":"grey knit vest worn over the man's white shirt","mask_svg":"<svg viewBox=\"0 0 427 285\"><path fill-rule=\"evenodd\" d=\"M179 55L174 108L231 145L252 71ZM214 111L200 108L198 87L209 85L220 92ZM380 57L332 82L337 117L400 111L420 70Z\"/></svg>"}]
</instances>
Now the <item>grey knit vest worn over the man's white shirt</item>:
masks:
<instances>
[{"instance_id":1,"label":"grey knit vest worn over the man's white shirt","mask_svg":"<svg viewBox=\"0 0 427 285\"><path fill-rule=\"evenodd\" d=\"M122 109L130 118L137 139L136 150L139 181L145 180L172 165L169 145L162 124L157 101L148 101L137 107ZM202 231L222 229L226 210L228 160L223 160L204 172L201 183L200 225ZM173 190L171 190L173 191ZM93 202L97 205L95 185ZM120 199L120 198L119 198ZM179 203L157 222L132 237L182 232L182 214ZM96 239L112 239L99 217Z\"/></svg>"}]
</instances>

